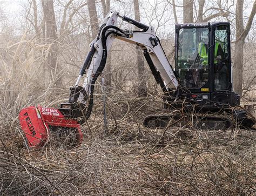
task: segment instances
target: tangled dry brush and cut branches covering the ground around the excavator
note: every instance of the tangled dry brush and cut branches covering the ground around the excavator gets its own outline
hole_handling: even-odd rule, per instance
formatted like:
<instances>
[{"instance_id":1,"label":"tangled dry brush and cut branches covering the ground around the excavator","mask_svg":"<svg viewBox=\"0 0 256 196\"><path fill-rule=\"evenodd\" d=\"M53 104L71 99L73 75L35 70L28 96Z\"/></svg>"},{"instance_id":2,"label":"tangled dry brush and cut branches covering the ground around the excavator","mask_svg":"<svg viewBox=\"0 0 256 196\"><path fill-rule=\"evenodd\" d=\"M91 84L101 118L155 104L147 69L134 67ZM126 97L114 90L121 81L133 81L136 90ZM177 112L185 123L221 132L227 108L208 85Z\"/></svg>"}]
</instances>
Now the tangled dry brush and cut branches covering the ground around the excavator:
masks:
<instances>
[{"instance_id":1,"label":"tangled dry brush and cut branches covering the ground around the excavator","mask_svg":"<svg viewBox=\"0 0 256 196\"><path fill-rule=\"evenodd\" d=\"M30 103L44 103L46 93L32 90L38 96ZM22 102L19 97L26 91L18 91L14 102ZM11 92L4 90L1 96ZM255 131L203 131L180 124L166 130L146 129L143 118L163 112L159 96L136 98L115 90L107 97L109 129L105 133L100 91L97 94L92 116L82 128L83 144L72 149L28 148L17 121L20 105L7 107L9 100L2 102L2 194L255 192ZM59 99L49 99L45 105Z\"/></svg>"}]
</instances>

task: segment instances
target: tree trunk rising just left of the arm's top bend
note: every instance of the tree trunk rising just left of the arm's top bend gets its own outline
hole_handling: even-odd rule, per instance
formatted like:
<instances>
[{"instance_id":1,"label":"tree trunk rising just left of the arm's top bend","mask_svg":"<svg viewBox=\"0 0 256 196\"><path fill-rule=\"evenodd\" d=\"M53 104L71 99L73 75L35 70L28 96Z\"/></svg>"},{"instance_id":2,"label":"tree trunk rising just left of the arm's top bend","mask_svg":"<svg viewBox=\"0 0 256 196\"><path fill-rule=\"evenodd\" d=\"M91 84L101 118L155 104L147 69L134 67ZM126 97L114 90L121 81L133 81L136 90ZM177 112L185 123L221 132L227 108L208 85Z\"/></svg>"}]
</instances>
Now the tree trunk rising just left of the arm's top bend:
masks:
<instances>
[{"instance_id":1,"label":"tree trunk rising just left of the arm's top bend","mask_svg":"<svg viewBox=\"0 0 256 196\"><path fill-rule=\"evenodd\" d=\"M90 26L92 31L92 39L97 37L99 31L99 22L97 17L96 5L95 0L88 0L88 11L90 16Z\"/></svg>"}]
</instances>

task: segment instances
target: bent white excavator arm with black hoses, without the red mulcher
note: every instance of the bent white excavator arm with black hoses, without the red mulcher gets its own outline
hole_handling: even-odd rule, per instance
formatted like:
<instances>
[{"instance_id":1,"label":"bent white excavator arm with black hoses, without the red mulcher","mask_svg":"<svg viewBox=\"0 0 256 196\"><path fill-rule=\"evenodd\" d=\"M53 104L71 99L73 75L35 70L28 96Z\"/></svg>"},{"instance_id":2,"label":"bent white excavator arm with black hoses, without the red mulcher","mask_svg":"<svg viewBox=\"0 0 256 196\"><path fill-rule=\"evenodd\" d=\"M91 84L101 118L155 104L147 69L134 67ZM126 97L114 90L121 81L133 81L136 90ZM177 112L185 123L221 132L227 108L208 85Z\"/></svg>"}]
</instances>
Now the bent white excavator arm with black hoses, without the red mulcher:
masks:
<instances>
[{"instance_id":1,"label":"bent white excavator arm with black hoses, without the red mulcher","mask_svg":"<svg viewBox=\"0 0 256 196\"><path fill-rule=\"evenodd\" d=\"M129 22L142 31L123 30L117 27L117 19ZM102 73L114 39L133 43L143 50L147 63L157 83L164 93L178 88L178 80L170 65L160 40L155 34L153 26L147 26L131 18L120 16L118 12L109 12L100 26L97 37L90 44L90 51L80 69L77 82L70 87L70 98L68 103L60 104L60 111L68 118L90 117L93 106L93 90L98 76ZM79 86L84 77L83 86ZM80 121L80 124L83 120Z\"/></svg>"}]
</instances>

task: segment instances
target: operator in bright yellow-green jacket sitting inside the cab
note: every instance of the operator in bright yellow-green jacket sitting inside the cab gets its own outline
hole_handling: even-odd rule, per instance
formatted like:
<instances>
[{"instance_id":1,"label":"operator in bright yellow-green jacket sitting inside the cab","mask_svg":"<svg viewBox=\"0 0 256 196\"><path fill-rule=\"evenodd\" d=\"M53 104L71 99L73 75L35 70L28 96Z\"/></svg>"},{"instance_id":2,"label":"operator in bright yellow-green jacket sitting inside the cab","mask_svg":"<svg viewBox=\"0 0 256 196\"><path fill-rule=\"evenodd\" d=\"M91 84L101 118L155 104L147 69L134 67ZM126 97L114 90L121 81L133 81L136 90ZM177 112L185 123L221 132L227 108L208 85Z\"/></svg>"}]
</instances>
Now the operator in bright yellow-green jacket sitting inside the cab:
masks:
<instances>
[{"instance_id":1,"label":"operator in bright yellow-green jacket sitting inside the cab","mask_svg":"<svg viewBox=\"0 0 256 196\"><path fill-rule=\"evenodd\" d=\"M208 35L202 35L201 36L202 42L198 44L198 54L199 57L201 58L201 62L203 65L208 64ZM215 43L215 48L214 48L214 64L218 63L223 59L224 57L224 52L223 49L221 48L219 42Z\"/></svg>"}]
</instances>

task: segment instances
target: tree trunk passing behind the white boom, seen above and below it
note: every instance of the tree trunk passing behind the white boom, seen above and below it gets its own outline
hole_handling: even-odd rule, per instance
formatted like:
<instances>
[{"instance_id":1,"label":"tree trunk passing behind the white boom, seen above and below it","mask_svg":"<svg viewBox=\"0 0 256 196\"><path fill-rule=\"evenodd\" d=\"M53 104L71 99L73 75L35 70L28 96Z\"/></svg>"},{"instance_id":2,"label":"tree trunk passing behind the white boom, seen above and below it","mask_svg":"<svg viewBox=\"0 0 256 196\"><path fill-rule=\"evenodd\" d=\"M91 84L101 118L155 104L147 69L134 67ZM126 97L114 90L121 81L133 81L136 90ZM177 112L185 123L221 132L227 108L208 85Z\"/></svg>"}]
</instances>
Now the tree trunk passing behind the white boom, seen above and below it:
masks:
<instances>
[{"instance_id":1,"label":"tree trunk passing behind the white boom, seen above and below it","mask_svg":"<svg viewBox=\"0 0 256 196\"><path fill-rule=\"evenodd\" d=\"M134 5L135 20L140 22L139 0L133 0L133 5ZM142 56L142 50L138 46L136 46L136 50L137 50L137 64L138 64L138 80L140 81L138 86L138 95L146 96L147 86L146 86L145 65L144 65L144 60Z\"/></svg>"}]
</instances>

